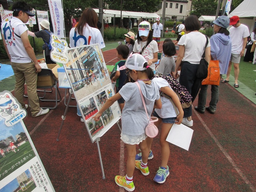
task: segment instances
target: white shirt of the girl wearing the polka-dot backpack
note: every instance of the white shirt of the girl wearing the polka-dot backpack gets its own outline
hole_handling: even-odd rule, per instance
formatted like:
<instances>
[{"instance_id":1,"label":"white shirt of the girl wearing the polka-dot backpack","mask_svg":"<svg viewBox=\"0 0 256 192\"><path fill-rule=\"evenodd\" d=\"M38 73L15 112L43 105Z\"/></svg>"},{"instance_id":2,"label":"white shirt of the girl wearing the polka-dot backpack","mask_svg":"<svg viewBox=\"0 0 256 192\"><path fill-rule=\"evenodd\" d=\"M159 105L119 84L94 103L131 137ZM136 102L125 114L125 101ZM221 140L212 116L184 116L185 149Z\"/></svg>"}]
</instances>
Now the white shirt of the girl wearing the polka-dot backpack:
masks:
<instances>
[{"instance_id":1,"label":"white shirt of the girl wearing the polka-dot backpack","mask_svg":"<svg viewBox=\"0 0 256 192\"><path fill-rule=\"evenodd\" d=\"M169 85L169 83L161 77L155 77L152 79L152 81L157 85L159 90L162 87L169 87L171 90L173 90L171 88L171 86ZM162 102L162 108L155 109L155 112L158 114L158 116L161 118L177 117L175 109L174 109L174 107L176 107L176 106L173 106L172 102L170 102L170 100L167 99L166 97L160 97L160 99Z\"/></svg>"}]
</instances>

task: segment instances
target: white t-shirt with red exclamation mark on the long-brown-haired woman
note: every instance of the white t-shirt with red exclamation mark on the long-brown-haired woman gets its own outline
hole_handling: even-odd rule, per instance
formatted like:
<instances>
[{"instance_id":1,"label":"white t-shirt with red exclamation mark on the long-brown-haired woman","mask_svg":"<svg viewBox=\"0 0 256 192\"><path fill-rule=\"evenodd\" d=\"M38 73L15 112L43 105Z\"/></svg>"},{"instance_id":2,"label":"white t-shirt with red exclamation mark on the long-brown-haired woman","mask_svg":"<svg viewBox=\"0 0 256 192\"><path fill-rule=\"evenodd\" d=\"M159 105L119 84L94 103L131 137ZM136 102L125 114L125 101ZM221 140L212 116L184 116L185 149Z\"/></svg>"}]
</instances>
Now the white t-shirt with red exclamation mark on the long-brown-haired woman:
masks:
<instances>
[{"instance_id":1,"label":"white t-shirt with red exclamation mark on the long-brown-haired woman","mask_svg":"<svg viewBox=\"0 0 256 192\"><path fill-rule=\"evenodd\" d=\"M84 27L84 34L75 32L75 27L70 30L70 47L79 47L80 45L91 45L99 43L100 48L105 47L100 30L90 27L88 24Z\"/></svg>"}]
</instances>

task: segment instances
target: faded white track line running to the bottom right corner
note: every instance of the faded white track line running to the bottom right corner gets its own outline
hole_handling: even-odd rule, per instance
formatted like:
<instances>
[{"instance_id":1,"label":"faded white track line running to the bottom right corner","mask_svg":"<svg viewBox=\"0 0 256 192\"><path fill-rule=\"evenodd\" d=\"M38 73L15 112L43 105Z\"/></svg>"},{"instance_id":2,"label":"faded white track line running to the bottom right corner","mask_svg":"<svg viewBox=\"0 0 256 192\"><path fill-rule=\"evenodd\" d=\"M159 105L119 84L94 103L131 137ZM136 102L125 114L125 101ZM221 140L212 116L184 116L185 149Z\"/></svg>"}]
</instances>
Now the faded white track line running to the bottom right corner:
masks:
<instances>
[{"instance_id":1,"label":"faded white track line running to the bottom right corner","mask_svg":"<svg viewBox=\"0 0 256 192\"><path fill-rule=\"evenodd\" d=\"M234 167L234 169L236 170L236 172L239 174L239 176L243 179L243 181L250 187L250 189L253 192L256 192L255 187L251 184L251 182L247 179L247 177L243 174L243 172L238 168L238 166L236 165L236 163L232 160L232 158L229 156L229 154L226 152L226 150L223 148L223 146L219 143L218 139L214 136L214 134L211 132L211 130L207 127L207 125L205 124L205 122L203 121L203 119L200 117L200 115L198 114L198 112L194 109L194 107L192 107L193 112L196 114L196 116L198 117L198 119L201 121L201 123L203 124L205 130L208 132L208 134L212 137L212 139L215 141L215 143L217 144L217 146L219 147L219 149L222 151L222 153L224 154L224 156L227 158L227 160L229 161L229 163L231 163L231 165Z\"/></svg>"}]
</instances>

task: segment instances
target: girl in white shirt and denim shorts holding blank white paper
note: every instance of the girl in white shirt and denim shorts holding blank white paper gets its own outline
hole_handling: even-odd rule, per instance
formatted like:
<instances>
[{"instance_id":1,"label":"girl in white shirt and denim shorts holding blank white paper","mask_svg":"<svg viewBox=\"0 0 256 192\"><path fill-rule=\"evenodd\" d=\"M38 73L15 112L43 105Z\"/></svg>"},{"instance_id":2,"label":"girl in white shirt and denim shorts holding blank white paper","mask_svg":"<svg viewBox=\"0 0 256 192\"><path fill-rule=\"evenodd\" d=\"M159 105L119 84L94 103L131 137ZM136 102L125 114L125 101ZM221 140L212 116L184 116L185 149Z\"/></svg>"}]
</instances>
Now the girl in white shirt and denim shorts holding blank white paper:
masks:
<instances>
[{"instance_id":1,"label":"girl in white shirt and denim shorts holding blank white paper","mask_svg":"<svg viewBox=\"0 0 256 192\"><path fill-rule=\"evenodd\" d=\"M169 175L169 167L167 165L169 156L170 156L170 148L169 148L169 142L166 141L166 138L169 134L169 131L172 128L172 125L174 123L181 124L181 121L183 119L184 112L182 110L180 101L176 93L172 90L169 83L161 78L161 77L155 77L152 79L152 81L158 86L159 91L165 93L169 97L172 98L175 105L172 104L172 102L167 99L166 97L160 97L162 102L162 108L161 109L155 109L153 116L158 118L158 121L155 122L155 125L157 127L160 126L162 123L161 133L160 133L160 146L161 146L161 166L159 167L158 171L156 172L156 175L154 177L154 181L157 183L164 183L166 177ZM177 115L175 112L175 107L177 107L179 114ZM148 148L151 148L151 144L153 142L153 138L147 137L146 138ZM153 152L150 150L150 154L148 156L148 159L153 158ZM142 156L141 153L136 155L136 160L141 160Z\"/></svg>"}]
</instances>

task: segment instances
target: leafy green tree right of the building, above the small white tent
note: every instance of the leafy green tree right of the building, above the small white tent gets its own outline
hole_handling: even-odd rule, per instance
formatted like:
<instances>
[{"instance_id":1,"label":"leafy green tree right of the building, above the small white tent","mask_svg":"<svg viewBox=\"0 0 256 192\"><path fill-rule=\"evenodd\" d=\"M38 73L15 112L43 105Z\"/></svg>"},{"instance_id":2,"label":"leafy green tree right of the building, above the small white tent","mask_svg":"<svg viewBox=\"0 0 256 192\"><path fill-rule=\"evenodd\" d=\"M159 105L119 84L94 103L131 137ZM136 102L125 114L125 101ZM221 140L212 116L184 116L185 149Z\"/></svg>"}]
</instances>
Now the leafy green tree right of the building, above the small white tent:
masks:
<instances>
[{"instance_id":1,"label":"leafy green tree right of the building, above the small white tent","mask_svg":"<svg viewBox=\"0 0 256 192\"><path fill-rule=\"evenodd\" d=\"M193 0L190 15L196 15L198 17L201 15L215 15L217 5L217 0Z\"/></svg>"}]
</instances>

